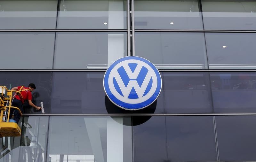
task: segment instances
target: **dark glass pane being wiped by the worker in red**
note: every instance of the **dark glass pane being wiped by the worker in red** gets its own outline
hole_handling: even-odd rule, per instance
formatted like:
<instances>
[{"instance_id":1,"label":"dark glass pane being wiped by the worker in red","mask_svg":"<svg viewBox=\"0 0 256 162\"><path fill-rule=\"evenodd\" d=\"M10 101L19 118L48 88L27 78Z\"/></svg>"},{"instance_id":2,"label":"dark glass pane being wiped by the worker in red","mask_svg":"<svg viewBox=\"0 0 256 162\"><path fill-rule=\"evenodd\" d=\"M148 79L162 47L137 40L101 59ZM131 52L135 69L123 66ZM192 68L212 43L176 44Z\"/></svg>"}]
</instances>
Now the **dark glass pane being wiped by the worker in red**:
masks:
<instances>
[{"instance_id":1,"label":"dark glass pane being wiped by the worker in red","mask_svg":"<svg viewBox=\"0 0 256 162\"><path fill-rule=\"evenodd\" d=\"M32 92L32 102L41 106L43 102L44 112L50 112L50 93L52 87L51 72L0 72L0 85L6 86L8 89L17 86L28 86L29 83L34 83L36 89ZM24 113L42 113L33 107L30 107L27 102L23 105Z\"/></svg>"}]
</instances>

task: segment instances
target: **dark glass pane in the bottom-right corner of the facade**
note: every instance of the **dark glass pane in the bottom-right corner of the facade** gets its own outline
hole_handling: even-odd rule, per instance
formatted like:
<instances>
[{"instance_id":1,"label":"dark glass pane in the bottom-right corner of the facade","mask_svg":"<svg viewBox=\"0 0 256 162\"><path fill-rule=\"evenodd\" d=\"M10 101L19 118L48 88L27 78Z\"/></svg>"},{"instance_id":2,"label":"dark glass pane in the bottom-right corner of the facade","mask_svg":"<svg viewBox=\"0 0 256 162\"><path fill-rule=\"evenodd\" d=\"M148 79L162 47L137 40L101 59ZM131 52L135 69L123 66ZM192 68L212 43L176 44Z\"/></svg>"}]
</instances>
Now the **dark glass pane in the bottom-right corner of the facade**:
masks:
<instances>
[{"instance_id":1,"label":"dark glass pane in the bottom-right corner of the facade","mask_svg":"<svg viewBox=\"0 0 256 162\"><path fill-rule=\"evenodd\" d=\"M256 116L216 116L220 161L256 160Z\"/></svg>"}]
</instances>

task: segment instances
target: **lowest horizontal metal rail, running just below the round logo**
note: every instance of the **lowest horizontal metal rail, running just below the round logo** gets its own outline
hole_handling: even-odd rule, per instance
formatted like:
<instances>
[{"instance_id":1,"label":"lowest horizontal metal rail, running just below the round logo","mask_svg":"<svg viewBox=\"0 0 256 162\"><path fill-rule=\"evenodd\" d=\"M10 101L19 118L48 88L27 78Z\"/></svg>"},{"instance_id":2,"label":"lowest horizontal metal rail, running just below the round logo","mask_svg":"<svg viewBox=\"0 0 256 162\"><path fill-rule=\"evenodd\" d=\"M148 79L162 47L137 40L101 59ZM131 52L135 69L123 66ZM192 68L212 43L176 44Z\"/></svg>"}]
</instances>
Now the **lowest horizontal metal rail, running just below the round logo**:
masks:
<instances>
[{"instance_id":1,"label":"lowest horizontal metal rail, running just below the round logo","mask_svg":"<svg viewBox=\"0 0 256 162\"><path fill-rule=\"evenodd\" d=\"M256 113L187 113L187 114L148 114L148 113L115 113L115 114L25 114L24 116L223 116L223 115L256 115Z\"/></svg>"}]
</instances>

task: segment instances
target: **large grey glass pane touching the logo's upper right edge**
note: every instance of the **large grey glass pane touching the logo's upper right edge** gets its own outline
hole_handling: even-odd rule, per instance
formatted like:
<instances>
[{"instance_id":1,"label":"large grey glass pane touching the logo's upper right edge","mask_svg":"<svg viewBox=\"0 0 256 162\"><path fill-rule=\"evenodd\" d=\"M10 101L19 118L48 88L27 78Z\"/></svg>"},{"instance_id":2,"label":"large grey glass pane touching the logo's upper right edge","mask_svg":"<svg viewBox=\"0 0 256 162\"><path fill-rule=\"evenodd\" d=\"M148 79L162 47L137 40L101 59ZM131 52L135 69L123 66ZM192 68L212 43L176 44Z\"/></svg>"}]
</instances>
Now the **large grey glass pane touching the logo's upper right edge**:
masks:
<instances>
[{"instance_id":1,"label":"large grey glass pane touching the logo's upper right edge","mask_svg":"<svg viewBox=\"0 0 256 162\"><path fill-rule=\"evenodd\" d=\"M203 33L136 32L135 55L158 69L205 69Z\"/></svg>"}]
</instances>

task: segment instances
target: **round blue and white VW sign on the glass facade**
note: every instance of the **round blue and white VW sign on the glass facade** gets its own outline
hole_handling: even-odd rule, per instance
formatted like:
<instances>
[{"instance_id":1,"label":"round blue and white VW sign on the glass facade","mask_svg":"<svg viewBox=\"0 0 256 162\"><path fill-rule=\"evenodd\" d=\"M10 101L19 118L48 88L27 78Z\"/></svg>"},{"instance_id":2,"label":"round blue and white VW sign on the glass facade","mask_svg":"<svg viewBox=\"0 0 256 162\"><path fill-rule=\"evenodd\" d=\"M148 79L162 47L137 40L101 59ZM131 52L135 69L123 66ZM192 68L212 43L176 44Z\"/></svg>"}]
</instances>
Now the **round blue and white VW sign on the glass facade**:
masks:
<instances>
[{"instance_id":1,"label":"round blue and white VW sign on the glass facade","mask_svg":"<svg viewBox=\"0 0 256 162\"><path fill-rule=\"evenodd\" d=\"M127 56L108 67L103 86L115 105L126 110L138 110L156 100L162 79L156 66L145 58Z\"/></svg>"}]
</instances>

